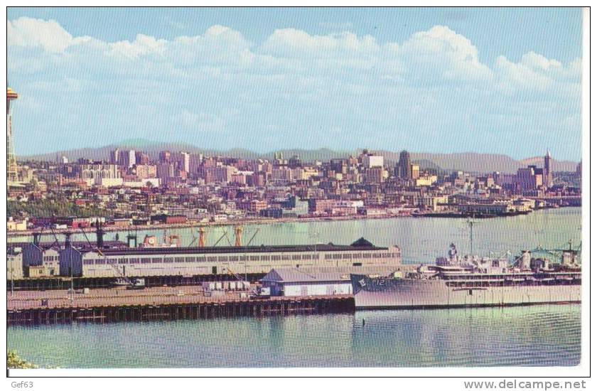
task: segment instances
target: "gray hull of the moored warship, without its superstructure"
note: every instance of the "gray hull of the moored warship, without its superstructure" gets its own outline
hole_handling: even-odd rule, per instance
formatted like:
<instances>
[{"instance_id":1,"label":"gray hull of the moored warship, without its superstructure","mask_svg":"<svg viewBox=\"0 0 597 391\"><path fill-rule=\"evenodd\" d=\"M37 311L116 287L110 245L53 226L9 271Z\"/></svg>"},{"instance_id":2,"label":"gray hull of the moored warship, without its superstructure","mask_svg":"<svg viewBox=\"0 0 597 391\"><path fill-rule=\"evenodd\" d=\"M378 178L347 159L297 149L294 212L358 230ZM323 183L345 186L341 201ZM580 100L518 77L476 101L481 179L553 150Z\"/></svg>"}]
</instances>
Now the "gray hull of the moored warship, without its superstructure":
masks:
<instances>
[{"instance_id":1,"label":"gray hull of the moored warship, without its superstructure","mask_svg":"<svg viewBox=\"0 0 597 391\"><path fill-rule=\"evenodd\" d=\"M357 309L432 309L581 302L581 284L450 286L443 279L370 278L351 274Z\"/></svg>"}]
</instances>

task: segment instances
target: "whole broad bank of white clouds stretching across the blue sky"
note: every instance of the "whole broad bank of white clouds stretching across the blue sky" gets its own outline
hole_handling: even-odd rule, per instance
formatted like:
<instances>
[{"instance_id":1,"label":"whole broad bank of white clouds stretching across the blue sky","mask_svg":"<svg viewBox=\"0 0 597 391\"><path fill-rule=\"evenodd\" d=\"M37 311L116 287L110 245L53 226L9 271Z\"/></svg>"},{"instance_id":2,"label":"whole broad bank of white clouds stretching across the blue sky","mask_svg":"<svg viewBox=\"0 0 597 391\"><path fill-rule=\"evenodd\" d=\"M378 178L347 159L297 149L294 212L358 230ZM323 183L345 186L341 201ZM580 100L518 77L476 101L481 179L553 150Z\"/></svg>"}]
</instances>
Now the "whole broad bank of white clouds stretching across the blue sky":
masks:
<instances>
[{"instance_id":1,"label":"whole broad bank of white clouds stretching across the blue sky","mask_svg":"<svg viewBox=\"0 0 597 391\"><path fill-rule=\"evenodd\" d=\"M466 119L495 134L529 124L571 131L579 126L580 59L564 64L529 52L485 64L468 38L446 26L383 44L350 32L318 36L293 28L276 30L262 43L225 26L198 36L139 34L117 42L73 37L55 21L31 18L9 21L8 29L11 80L31 88L23 97L42 102L51 96L41 105L47 111L38 110L39 124L55 117L52 103L65 107L72 100L79 117L100 121L98 105L113 107L118 97L113 118L127 129L159 132L176 124L186 134L220 132L217 138L208 133L217 140L234 134L231 143L242 142L249 129L270 126L279 132L266 138L288 137L302 126L310 142L332 133L312 130L340 127L343 132L332 136L338 143L351 130L364 138L374 132L368 129L458 133ZM48 81L65 93L55 97L43 90L40 83ZM151 107L159 115L147 114ZM93 126L99 125L90 121L82 129Z\"/></svg>"}]
</instances>

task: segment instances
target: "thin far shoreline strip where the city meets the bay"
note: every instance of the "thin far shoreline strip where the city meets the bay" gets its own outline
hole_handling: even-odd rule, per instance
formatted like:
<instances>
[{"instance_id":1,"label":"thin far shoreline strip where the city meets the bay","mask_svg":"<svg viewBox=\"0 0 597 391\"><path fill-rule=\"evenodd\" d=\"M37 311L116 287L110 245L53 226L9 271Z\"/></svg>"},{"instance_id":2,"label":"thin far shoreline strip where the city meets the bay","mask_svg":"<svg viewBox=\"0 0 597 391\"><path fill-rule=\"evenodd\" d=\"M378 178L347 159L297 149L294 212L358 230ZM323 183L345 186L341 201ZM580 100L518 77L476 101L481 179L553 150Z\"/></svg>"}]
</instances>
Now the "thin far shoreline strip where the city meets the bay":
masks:
<instances>
[{"instance_id":1,"label":"thin far shoreline strip where the city meets the bay","mask_svg":"<svg viewBox=\"0 0 597 391\"><path fill-rule=\"evenodd\" d=\"M561 208L581 208L581 206L566 206ZM532 210L527 215L536 212ZM487 218L510 218L516 217L517 215L495 215ZM187 229L193 227L234 227L235 225L274 225L274 224L285 224L285 223L319 223L319 222L332 222L332 221L346 221L346 220L389 220L395 218L453 218L463 219L470 218L468 215L453 215L446 214L441 215L377 215L377 216L365 216L365 215L351 215L351 216L326 216L326 217L308 217L308 218L257 218L257 219L242 219L242 220L228 220L222 222L208 222L200 223L198 221L189 221L187 223L175 223L175 224L156 224L156 225L129 225L127 227L120 227L115 225L104 225L102 226L105 232L125 232L131 231L158 231L158 230L173 230L173 229ZM88 233L95 232L95 227L85 228L60 228L57 230L44 230L43 235L52 235L52 232L56 235L64 234L65 232L72 233ZM40 233L41 230L23 230L23 231L7 231L6 237L20 237L20 236L32 236L34 233Z\"/></svg>"}]
</instances>

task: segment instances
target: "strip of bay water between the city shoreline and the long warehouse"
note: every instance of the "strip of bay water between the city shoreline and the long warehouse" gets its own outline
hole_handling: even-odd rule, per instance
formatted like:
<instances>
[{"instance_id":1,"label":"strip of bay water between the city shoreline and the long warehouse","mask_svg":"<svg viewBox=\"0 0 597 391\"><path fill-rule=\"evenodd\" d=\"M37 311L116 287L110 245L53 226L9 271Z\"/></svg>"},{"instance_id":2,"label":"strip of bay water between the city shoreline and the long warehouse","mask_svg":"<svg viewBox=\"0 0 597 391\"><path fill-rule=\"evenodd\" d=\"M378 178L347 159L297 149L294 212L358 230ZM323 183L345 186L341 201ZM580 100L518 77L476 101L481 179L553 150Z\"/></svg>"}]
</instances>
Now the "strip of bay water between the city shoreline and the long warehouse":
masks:
<instances>
[{"instance_id":1,"label":"strip of bay water between the city shoreline and the long warehouse","mask_svg":"<svg viewBox=\"0 0 597 391\"><path fill-rule=\"evenodd\" d=\"M208 245L213 245L226 229L230 240L232 227L212 227L208 234ZM197 231L197 228L193 230ZM399 245L402 247L404 263L434 262L439 255L445 255L448 245L454 242L461 253L468 253L469 229L466 220L453 218L393 218L372 220L318 221L304 223L274 223L270 225L245 225L244 241L247 242L256 230L252 245L303 245L313 242L350 244L359 237L365 237L375 245ZM117 232L108 232L107 240L114 239ZM179 235L182 245L189 245L198 236L192 229L168 230L168 235ZM313 237L313 234L318 234ZM124 240L126 231L119 232ZM139 240L145 235L163 236L161 230L139 230ZM88 233L89 240L95 234ZM72 235L73 240L85 240L81 233ZM63 237L60 237L62 240ZM10 237L11 241L23 241L24 237ZM43 240L54 241L53 235ZM489 252L519 254L523 249L568 247L572 240L575 247L581 240L581 208L559 208L537 210L529 215L508 218L478 220L473 228L473 252L489 255ZM196 240L195 240L196 243ZM225 238L219 245L229 245Z\"/></svg>"}]
</instances>

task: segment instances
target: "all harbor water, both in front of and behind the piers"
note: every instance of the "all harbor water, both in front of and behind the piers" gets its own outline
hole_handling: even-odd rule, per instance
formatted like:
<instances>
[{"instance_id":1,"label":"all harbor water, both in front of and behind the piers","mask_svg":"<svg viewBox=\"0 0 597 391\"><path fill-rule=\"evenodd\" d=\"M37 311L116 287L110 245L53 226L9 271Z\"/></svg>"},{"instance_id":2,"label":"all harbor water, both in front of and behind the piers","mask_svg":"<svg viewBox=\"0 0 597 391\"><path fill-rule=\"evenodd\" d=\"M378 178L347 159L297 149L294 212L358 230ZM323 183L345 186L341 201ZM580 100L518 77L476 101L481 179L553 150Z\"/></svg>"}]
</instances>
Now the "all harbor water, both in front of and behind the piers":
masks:
<instances>
[{"instance_id":1,"label":"all harbor water, both in front of and behind the piers","mask_svg":"<svg viewBox=\"0 0 597 391\"><path fill-rule=\"evenodd\" d=\"M580 225L580 208L480 220L474 230L475 253L561 248L570 239L576 247ZM313 232L318 232L317 242L349 243L362 236L376 245L402 246L408 263L432 262L445 254L450 242L461 252L468 250L468 228L458 219L247 226L245 237L256 228L257 245L312 243ZM210 242L221 232L214 228ZM168 233L178 233L185 244L193 240L188 229ZM82 235L80 239L85 240ZM8 348L40 366L60 368L566 366L581 360L581 307L11 326Z\"/></svg>"}]
</instances>

